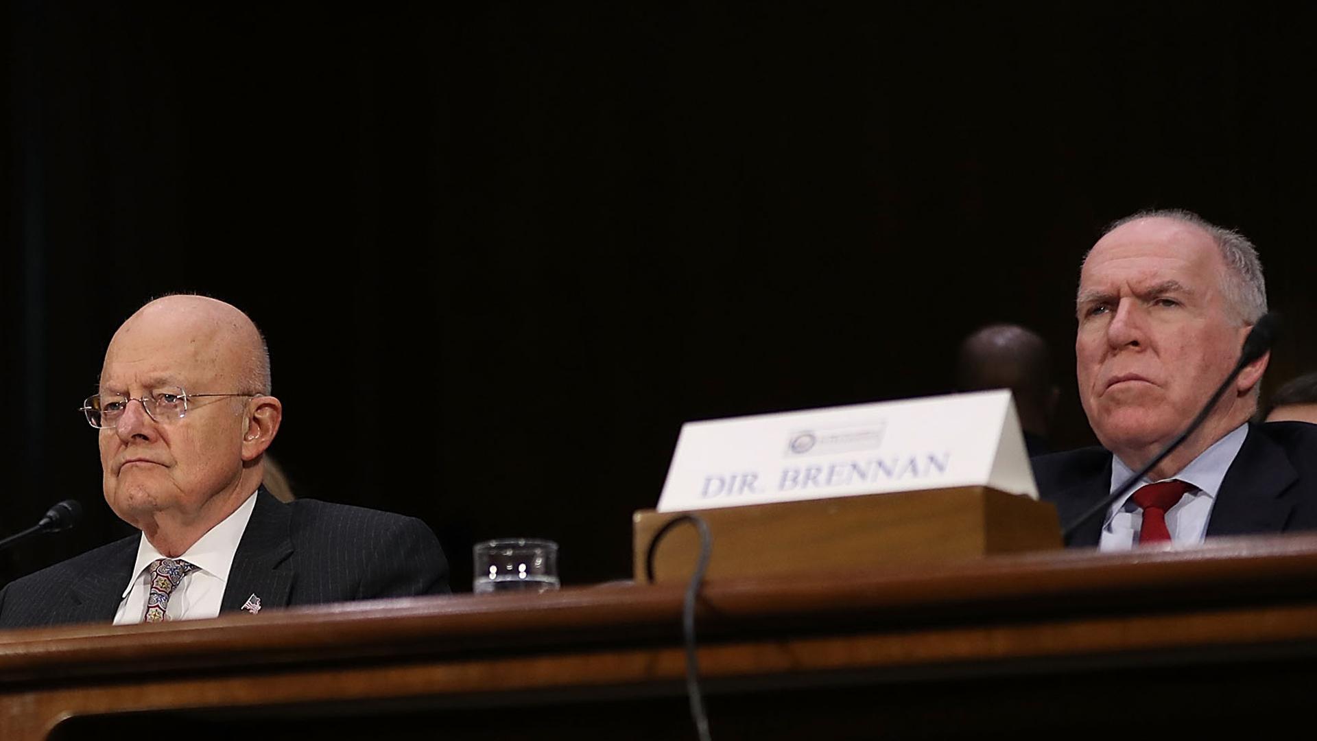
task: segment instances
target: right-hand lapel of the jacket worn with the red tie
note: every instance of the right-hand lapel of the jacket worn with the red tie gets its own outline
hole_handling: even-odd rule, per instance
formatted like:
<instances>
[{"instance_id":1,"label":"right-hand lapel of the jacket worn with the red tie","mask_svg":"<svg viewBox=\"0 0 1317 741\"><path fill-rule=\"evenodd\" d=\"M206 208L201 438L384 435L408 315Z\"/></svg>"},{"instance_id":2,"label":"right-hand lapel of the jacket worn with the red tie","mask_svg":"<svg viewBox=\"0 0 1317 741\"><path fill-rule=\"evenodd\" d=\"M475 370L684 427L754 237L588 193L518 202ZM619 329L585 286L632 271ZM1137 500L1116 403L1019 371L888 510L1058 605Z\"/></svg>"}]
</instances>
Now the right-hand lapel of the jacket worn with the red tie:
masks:
<instances>
[{"instance_id":1,"label":"right-hand lapel of the jacket worn with the red tie","mask_svg":"<svg viewBox=\"0 0 1317 741\"><path fill-rule=\"evenodd\" d=\"M1249 436L1212 505L1208 535L1280 533L1293 506L1280 494L1296 480L1299 473L1284 448L1249 425Z\"/></svg>"}]
</instances>

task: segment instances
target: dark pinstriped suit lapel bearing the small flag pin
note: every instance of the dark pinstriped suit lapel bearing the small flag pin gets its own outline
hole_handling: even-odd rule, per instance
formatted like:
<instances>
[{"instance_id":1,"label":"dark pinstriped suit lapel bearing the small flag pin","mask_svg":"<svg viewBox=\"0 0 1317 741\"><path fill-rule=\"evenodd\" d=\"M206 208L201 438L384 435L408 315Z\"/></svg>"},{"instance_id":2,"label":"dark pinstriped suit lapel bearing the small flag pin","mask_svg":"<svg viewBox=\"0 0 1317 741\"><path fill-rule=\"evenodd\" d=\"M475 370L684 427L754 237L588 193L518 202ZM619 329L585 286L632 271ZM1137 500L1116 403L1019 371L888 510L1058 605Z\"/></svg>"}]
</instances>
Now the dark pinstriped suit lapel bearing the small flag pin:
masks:
<instances>
[{"instance_id":1,"label":"dark pinstriped suit lapel bearing the small flag pin","mask_svg":"<svg viewBox=\"0 0 1317 741\"><path fill-rule=\"evenodd\" d=\"M253 595L261 600L261 607L288 604L294 578L287 563L292 555L292 541L288 537L292 512L266 492L265 487L257 489L255 497L252 519L233 554L229 581L220 603L221 613L241 609Z\"/></svg>"}]
</instances>

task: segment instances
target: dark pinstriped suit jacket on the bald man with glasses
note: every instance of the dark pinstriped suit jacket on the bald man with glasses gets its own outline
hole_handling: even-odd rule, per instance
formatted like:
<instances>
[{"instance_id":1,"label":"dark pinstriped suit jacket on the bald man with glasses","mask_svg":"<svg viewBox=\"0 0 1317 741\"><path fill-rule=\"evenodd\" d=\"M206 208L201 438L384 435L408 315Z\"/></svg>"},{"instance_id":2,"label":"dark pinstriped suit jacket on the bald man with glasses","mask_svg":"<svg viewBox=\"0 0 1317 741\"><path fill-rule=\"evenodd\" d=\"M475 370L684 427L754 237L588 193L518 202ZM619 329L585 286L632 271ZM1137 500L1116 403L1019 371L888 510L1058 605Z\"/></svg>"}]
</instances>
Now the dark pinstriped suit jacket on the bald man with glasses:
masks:
<instances>
[{"instance_id":1,"label":"dark pinstriped suit jacket on the bald man with glasses","mask_svg":"<svg viewBox=\"0 0 1317 741\"><path fill-rule=\"evenodd\" d=\"M424 522L373 509L257 492L220 612L448 592L448 562ZM0 591L0 629L111 622L141 535L101 546Z\"/></svg>"}]
</instances>

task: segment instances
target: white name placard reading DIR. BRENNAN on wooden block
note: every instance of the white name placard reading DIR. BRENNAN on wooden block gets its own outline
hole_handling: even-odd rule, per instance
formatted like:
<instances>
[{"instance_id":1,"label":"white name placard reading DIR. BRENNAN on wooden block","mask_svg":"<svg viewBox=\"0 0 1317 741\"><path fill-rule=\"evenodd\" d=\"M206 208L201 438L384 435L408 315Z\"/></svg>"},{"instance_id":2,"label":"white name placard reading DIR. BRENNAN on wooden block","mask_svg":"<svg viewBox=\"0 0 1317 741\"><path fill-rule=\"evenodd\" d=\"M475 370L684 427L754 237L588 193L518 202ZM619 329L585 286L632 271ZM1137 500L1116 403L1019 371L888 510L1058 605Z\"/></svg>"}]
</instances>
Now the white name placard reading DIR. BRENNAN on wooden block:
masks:
<instances>
[{"instance_id":1,"label":"white name placard reading DIR. BRENNAN on wooden block","mask_svg":"<svg viewBox=\"0 0 1317 741\"><path fill-rule=\"evenodd\" d=\"M657 509L976 485L1038 498L1009 390L687 422Z\"/></svg>"}]
</instances>

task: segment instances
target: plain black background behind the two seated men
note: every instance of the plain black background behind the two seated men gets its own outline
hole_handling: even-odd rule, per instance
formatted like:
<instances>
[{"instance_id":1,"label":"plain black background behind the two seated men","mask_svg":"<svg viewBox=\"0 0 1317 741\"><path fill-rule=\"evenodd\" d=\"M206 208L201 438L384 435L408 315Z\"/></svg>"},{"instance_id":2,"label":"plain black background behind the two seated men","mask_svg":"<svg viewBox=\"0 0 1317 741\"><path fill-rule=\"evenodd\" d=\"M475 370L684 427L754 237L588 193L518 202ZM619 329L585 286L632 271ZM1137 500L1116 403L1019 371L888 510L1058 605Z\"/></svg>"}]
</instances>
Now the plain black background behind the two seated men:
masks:
<instances>
[{"instance_id":1,"label":"plain black background behind the two seated men","mask_svg":"<svg viewBox=\"0 0 1317 741\"><path fill-rule=\"evenodd\" d=\"M141 303L246 310L299 496L627 578L681 423L951 389L960 338L1055 349L1110 220L1184 207L1259 245L1306 339L1310 12L809 3L331 9L11 1L3 531L121 533L76 411ZM1296 15L1303 13L1303 15Z\"/></svg>"}]
</instances>

